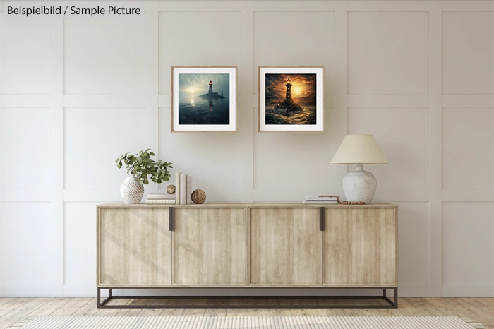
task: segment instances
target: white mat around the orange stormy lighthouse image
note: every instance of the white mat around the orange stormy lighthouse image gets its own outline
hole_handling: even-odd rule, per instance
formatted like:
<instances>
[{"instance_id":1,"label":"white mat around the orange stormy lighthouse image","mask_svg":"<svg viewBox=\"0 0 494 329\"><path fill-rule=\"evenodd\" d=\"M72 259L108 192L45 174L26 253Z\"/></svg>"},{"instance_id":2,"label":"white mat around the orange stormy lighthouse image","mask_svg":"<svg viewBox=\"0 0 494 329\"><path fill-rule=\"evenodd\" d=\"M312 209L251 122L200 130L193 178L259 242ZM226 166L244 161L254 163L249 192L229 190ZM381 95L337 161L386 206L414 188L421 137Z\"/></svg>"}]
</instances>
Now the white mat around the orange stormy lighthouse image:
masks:
<instances>
[{"instance_id":1,"label":"white mat around the orange stormy lighthouse image","mask_svg":"<svg viewBox=\"0 0 494 329\"><path fill-rule=\"evenodd\" d=\"M323 69L322 67L261 67L259 70L259 131L323 131L324 121L324 88L323 88ZM315 120L314 125L296 125L296 124L265 124L266 118L266 73L275 74L311 74L315 73Z\"/></svg>"}]
</instances>

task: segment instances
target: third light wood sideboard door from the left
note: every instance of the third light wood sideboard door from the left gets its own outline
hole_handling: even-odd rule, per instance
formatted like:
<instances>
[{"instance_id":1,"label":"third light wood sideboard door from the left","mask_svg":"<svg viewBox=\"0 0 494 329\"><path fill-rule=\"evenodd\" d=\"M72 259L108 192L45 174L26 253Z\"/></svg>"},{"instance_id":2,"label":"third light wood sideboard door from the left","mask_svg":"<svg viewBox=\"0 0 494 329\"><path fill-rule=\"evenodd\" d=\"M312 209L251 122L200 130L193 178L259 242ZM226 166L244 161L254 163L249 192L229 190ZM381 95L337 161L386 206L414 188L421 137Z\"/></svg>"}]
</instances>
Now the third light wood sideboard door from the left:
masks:
<instances>
[{"instance_id":1,"label":"third light wood sideboard door from the left","mask_svg":"<svg viewBox=\"0 0 494 329\"><path fill-rule=\"evenodd\" d=\"M319 208L249 212L249 285L321 285Z\"/></svg>"}]
</instances>

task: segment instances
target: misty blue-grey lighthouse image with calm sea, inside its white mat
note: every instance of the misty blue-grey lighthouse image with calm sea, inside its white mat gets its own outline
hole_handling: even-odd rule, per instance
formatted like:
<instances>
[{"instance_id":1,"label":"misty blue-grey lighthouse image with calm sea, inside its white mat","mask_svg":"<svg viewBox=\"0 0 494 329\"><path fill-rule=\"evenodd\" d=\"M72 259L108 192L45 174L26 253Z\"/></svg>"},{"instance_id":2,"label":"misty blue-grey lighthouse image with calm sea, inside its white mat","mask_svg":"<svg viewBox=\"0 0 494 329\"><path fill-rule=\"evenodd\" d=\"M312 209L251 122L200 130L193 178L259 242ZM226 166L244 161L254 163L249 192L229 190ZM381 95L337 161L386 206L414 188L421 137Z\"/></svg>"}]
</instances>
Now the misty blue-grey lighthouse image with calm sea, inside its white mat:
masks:
<instances>
[{"instance_id":1,"label":"misty blue-grey lighthouse image with calm sea, inside its white mat","mask_svg":"<svg viewBox=\"0 0 494 329\"><path fill-rule=\"evenodd\" d=\"M229 73L179 74L179 124L230 124Z\"/></svg>"}]
</instances>

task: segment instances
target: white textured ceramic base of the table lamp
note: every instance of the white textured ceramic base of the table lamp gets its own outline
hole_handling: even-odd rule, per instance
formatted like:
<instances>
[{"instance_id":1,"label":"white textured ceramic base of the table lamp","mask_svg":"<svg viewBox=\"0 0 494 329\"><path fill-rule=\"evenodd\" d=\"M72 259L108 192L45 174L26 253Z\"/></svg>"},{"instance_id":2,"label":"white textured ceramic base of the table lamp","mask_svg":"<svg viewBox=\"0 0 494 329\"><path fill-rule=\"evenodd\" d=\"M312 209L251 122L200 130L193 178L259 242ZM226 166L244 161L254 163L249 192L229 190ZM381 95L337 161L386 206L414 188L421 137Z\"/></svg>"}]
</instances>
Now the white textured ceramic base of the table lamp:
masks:
<instances>
[{"instance_id":1,"label":"white textured ceramic base of the table lamp","mask_svg":"<svg viewBox=\"0 0 494 329\"><path fill-rule=\"evenodd\" d=\"M364 201L370 203L374 198L378 181L370 172L363 170L362 164L356 164L355 170L343 177L343 192L347 201Z\"/></svg>"}]
</instances>

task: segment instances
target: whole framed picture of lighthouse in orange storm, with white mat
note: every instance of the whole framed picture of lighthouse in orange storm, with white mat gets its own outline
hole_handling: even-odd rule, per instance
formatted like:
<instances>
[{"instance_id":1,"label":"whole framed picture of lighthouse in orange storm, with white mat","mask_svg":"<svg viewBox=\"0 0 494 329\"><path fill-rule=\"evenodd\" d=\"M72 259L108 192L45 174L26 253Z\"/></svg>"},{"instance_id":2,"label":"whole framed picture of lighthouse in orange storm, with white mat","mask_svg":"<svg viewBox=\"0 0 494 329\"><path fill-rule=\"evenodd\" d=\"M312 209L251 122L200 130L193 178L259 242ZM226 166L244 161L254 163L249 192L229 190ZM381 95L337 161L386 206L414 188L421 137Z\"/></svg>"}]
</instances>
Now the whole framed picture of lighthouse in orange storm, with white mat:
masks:
<instances>
[{"instance_id":1,"label":"whole framed picture of lighthouse in orange storm, with white mat","mask_svg":"<svg viewBox=\"0 0 494 329\"><path fill-rule=\"evenodd\" d=\"M258 66L258 131L324 131L324 66Z\"/></svg>"}]
</instances>

